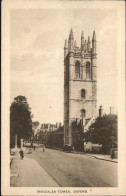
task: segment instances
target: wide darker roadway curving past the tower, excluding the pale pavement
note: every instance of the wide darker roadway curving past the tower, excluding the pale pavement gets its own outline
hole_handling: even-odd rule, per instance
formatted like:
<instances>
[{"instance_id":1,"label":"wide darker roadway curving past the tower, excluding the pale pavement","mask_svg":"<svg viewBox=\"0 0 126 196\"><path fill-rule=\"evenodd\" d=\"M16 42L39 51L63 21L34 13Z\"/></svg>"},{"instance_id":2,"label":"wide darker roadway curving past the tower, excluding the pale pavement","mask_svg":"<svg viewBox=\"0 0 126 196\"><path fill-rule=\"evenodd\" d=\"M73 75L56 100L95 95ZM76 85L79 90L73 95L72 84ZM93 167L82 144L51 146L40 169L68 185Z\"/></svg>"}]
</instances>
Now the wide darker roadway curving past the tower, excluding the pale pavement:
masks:
<instances>
[{"instance_id":1,"label":"wide darker roadway curving past the tower, excluding the pale pavement","mask_svg":"<svg viewBox=\"0 0 126 196\"><path fill-rule=\"evenodd\" d=\"M57 186L61 187L116 187L118 164L91 156L64 153L59 150L36 148L25 152L25 158L35 160ZM29 161L30 163L30 161ZM33 168L35 170L35 167ZM27 170L25 169L26 173ZM35 172L34 172L35 173ZM36 176L37 178L37 176ZM56 184L54 186L56 186ZM41 185L42 186L42 185ZM48 187L51 184L48 183Z\"/></svg>"}]
</instances>

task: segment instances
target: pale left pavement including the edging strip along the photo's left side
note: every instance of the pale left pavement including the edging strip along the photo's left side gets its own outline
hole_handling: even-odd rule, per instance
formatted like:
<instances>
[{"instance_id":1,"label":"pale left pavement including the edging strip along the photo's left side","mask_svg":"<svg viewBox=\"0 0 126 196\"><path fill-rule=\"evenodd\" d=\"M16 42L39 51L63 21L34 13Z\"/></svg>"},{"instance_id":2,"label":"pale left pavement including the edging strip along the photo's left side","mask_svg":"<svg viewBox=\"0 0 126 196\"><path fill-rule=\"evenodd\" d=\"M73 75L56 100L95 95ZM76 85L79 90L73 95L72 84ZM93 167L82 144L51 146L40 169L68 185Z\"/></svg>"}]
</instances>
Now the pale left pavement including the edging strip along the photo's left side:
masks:
<instances>
[{"instance_id":1,"label":"pale left pavement including the edging strip along the photo's left side","mask_svg":"<svg viewBox=\"0 0 126 196\"><path fill-rule=\"evenodd\" d=\"M10 186L58 187L59 185L35 160L26 157L20 160L19 150L17 150L11 164Z\"/></svg>"}]
</instances>

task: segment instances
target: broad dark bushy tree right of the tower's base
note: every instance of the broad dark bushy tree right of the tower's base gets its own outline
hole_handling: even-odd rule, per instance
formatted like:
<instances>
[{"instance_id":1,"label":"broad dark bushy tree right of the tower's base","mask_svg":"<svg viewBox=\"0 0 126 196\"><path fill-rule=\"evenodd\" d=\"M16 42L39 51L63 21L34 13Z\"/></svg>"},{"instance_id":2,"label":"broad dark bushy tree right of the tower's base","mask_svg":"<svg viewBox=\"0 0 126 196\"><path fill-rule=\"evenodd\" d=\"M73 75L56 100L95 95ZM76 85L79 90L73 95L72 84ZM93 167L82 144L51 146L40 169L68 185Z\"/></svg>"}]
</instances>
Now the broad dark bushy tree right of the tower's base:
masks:
<instances>
[{"instance_id":1,"label":"broad dark bushy tree right of the tower's base","mask_svg":"<svg viewBox=\"0 0 126 196\"><path fill-rule=\"evenodd\" d=\"M96 118L96 121L84 133L85 141L102 144L105 146L117 146L117 115L104 115Z\"/></svg>"}]
</instances>

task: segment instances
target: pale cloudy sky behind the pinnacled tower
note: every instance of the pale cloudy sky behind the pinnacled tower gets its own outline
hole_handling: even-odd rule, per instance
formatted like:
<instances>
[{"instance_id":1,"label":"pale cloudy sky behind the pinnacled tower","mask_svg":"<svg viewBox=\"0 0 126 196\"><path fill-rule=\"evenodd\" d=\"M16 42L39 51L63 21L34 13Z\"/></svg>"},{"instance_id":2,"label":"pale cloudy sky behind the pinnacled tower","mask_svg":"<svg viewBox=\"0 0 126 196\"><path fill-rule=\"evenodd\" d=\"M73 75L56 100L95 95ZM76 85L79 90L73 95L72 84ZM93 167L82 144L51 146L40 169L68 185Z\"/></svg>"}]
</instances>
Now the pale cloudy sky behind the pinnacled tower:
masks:
<instances>
[{"instance_id":1,"label":"pale cloudy sky behind the pinnacled tower","mask_svg":"<svg viewBox=\"0 0 126 196\"><path fill-rule=\"evenodd\" d=\"M117 110L117 24L114 9L15 9L10 17L10 89L27 97L33 120L63 123L64 42L73 28L97 39L97 106Z\"/></svg>"}]
</instances>

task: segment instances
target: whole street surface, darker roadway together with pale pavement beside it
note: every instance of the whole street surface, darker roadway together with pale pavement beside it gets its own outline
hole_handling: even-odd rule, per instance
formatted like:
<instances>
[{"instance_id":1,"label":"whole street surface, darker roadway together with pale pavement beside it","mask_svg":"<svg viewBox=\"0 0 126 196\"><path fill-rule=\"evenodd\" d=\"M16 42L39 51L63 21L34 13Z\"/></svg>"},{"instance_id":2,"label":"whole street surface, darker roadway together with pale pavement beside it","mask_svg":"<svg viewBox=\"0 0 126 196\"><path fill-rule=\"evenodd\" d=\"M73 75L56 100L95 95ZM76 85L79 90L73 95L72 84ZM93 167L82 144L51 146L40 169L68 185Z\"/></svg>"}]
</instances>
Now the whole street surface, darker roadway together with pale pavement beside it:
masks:
<instances>
[{"instance_id":1,"label":"whole street surface, darker roadway together with pale pavement beside it","mask_svg":"<svg viewBox=\"0 0 126 196\"><path fill-rule=\"evenodd\" d=\"M59 150L26 148L20 160L19 186L116 187L118 164ZM41 183L40 183L41 182Z\"/></svg>"}]
</instances>

